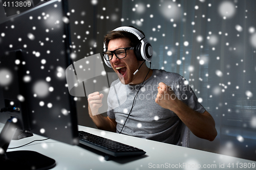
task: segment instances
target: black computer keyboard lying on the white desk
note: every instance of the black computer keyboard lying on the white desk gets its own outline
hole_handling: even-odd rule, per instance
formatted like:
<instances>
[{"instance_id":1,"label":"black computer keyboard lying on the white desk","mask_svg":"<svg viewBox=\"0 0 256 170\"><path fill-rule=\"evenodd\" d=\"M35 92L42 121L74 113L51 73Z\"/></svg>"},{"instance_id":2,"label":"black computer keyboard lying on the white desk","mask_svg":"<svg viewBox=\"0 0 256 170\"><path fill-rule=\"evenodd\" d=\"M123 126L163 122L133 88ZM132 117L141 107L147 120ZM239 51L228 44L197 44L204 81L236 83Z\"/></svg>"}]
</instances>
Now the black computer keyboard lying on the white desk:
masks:
<instances>
[{"instance_id":1,"label":"black computer keyboard lying on the white desk","mask_svg":"<svg viewBox=\"0 0 256 170\"><path fill-rule=\"evenodd\" d=\"M105 160L108 160L108 156L134 156L144 155L146 153L143 150L132 147L130 145L97 136L88 132L78 131L78 135L79 143L107 154Z\"/></svg>"}]
</instances>

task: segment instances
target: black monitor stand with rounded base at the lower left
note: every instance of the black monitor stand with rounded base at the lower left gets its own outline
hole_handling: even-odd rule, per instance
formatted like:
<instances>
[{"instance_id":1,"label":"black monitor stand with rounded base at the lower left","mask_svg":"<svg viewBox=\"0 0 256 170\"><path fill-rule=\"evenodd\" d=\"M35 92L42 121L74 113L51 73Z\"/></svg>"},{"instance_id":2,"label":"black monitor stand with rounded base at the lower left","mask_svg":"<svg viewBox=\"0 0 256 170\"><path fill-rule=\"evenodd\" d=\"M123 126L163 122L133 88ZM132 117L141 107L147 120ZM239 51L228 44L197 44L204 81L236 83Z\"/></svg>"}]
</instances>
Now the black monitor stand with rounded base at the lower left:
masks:
<instances>
[{"instance_id":1,"label":"black monitor stand with rounded base at the lower left","mask_svg":"<svg viewBox=\"0 0 256 170\"><path fill-rule=\"evenodd\" d=\"M0 166L1 169L50 169L56 165L54 159L34 151L6 152L17 129L13 123L15 117L9 118L0 134Z\"/></svg>"}]
</instances>

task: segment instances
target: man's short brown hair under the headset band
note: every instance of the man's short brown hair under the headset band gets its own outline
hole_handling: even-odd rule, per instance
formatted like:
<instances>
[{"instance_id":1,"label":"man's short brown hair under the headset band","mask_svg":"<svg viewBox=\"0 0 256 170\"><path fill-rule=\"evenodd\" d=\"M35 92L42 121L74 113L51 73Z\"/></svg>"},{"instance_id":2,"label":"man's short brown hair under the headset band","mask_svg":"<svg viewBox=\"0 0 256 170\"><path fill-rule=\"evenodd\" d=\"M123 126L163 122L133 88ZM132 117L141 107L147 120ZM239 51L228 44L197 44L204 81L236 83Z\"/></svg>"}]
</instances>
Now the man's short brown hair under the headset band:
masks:
<instances>
[{"instance_id":1,"label":"man's short brown hair under the headset band","mask_svg":"<svg viewBox=\"0 0 256 170\"><path fill-rule=\"evenodd\" d=\"M138 30L139 32L141 32L145 36L145 34L141 30L139 30L133 26L127 26L127 27L134 28L134 29ZM110 31L108 34L106 34L104 36L104 43L105 43L106 50L108 50L108 45L109 45L110 40L117 39L117 38L128 38L130 40L129 43L130 43L131 47L136 47L136 45L138 43L140 43L140 40L138 39L138 37L136 35L134 35L133 33L130 33L127 31ZM127 47L129 47L129 46L127 46Z\"/></svg>"}]
</instances>

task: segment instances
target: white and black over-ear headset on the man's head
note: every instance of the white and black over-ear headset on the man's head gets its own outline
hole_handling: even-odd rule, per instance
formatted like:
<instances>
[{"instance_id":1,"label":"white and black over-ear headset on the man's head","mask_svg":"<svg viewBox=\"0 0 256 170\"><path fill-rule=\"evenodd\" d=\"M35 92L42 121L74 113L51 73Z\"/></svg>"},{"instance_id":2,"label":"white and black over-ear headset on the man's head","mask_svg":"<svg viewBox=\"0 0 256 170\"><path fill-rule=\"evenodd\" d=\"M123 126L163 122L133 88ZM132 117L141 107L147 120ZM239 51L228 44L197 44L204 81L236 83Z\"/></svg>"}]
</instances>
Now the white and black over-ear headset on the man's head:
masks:
<instances>
[{"instance_id":1,"label":"white and black over-ear headset on the man's head","mask_svg":"<svg viewBox=\"0 0 256 170\"><path fill-rule=\"evenodd\" d=\"M136 58L139 61L146 60L151 63L152 56L153 56L153 48L152 48L151 44L147 41L145 36L140 31L138 31L137 29L132 28L132 27L118 27L113 31L127 31L129 33L136 35L136 37L140 40L140 43L138 43L136 45L136 47L134 48L134 53L135 53ZM104 51L107 50L105 43L103 43L103 50ZM112 68L110 61L106 61L104 58L104 62L108 67Z\"/></svg>"}]
</instances>

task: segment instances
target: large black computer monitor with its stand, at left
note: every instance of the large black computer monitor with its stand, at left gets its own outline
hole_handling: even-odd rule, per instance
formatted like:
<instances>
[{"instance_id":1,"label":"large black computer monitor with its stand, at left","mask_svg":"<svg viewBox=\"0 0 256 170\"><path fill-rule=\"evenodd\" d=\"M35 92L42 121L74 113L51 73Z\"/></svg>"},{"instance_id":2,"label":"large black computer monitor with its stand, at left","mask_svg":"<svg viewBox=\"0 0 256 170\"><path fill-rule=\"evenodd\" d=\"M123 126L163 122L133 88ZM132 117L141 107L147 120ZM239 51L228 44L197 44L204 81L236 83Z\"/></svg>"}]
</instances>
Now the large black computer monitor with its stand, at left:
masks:
<instances>
[{"instance_id":1,"label":"large black computer monitor with its stand, at left","mask_svg":"<svg viewBox=\"0 0 256 170\"><path fill-rule=\"evenodd\" d=\"M55 165L29 151L6 152L12 138L7 134L13 135L15 128L78 144L75 101L65 76L72 64L67 13L66 0L52 0L0 24L0 85L5 100L1 111L10 117L0 135L1 167L13 161L20 161L19 168L23 163L32 169Z\"/></svg>"}]
</instances>

